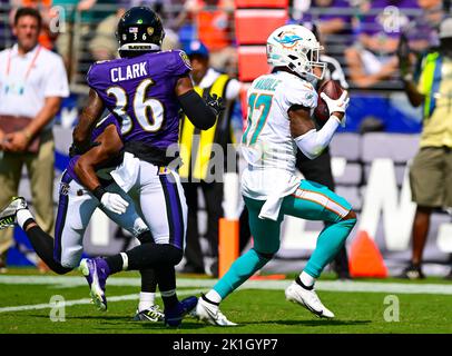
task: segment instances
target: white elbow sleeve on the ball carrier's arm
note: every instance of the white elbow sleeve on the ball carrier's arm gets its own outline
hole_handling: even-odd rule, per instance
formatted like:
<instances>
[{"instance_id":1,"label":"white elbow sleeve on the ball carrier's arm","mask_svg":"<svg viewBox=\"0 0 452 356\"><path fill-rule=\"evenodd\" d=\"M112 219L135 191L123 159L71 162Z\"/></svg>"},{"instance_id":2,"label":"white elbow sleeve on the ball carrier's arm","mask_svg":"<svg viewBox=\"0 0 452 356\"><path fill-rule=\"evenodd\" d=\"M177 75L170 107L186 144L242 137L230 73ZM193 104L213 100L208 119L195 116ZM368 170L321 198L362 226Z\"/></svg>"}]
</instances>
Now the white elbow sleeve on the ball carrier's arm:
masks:
<instances>
[{"instance_id":1,"label":"white elbow sleeve on the ball carrier's arm","mask_svg":"<svg viewBox=\"0 0 452 356\"><path fill-rule=\"evenodd\" d=\"M312 129L295 138L296 146L307 158L314 159L330 145L338 125L336 117L332 116L321 130Z\"/></svg>"}]
</instances>

